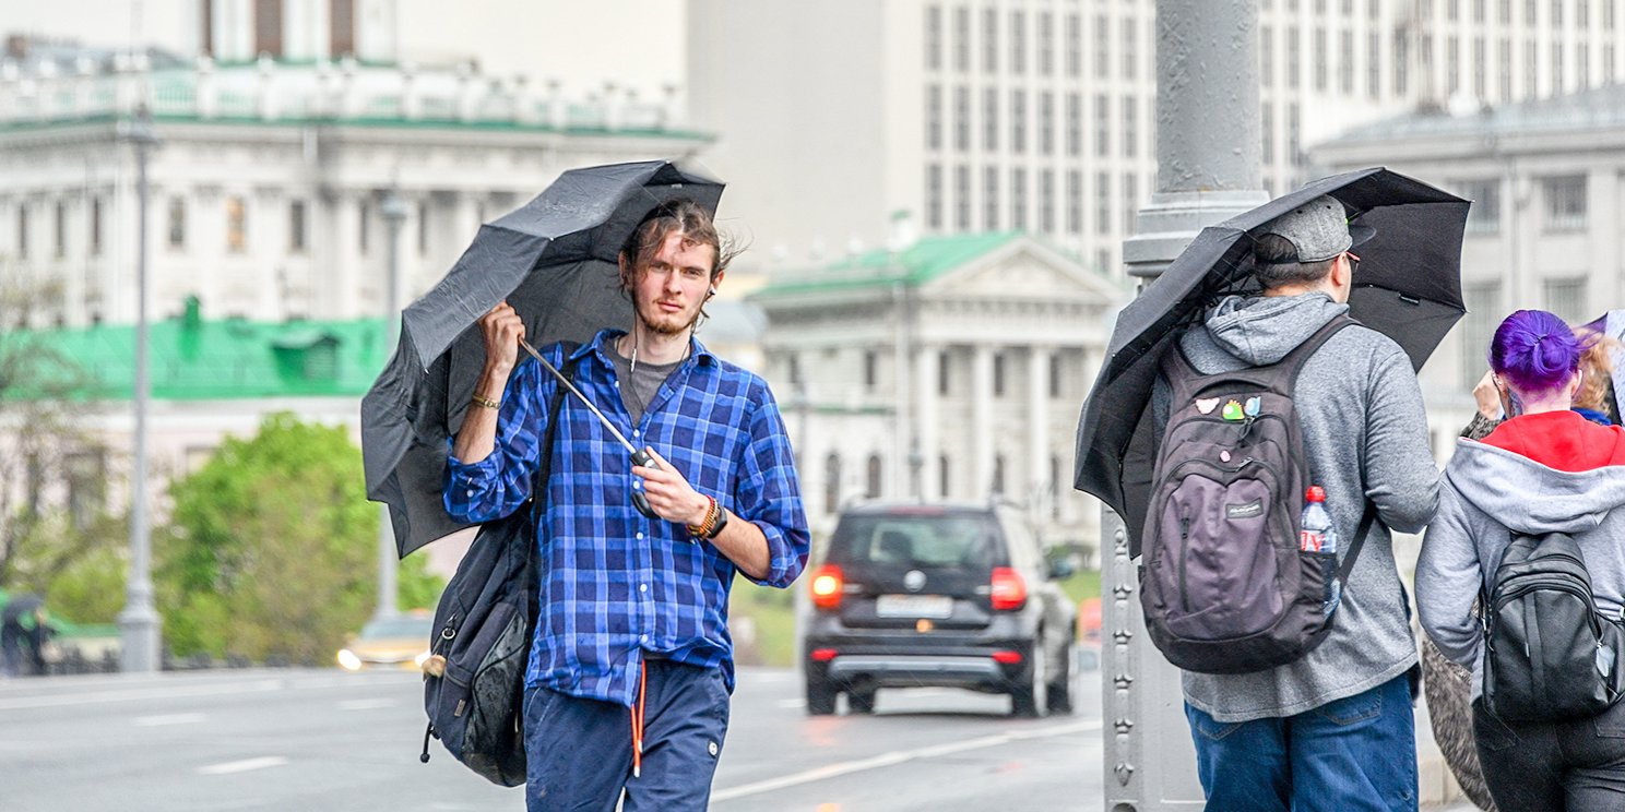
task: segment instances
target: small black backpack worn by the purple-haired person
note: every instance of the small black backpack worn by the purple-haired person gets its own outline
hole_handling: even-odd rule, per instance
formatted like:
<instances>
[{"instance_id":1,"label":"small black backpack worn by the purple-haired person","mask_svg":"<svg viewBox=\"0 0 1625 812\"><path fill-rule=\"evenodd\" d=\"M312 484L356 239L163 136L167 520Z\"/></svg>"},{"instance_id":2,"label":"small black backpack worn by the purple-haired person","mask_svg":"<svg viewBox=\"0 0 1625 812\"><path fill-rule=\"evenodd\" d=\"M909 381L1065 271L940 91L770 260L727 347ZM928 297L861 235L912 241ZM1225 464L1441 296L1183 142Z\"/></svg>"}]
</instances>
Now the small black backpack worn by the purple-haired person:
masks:
<instances>
[{"instance_id":1,"label":"small black backpack worn by the purple-haired person","mask_svg":"<svg viewBox=\"0 0 1625 812\"><path fill-rule=\"evenodd\" d=\"M1588 718L1618 698L1622 630L1597 611L1568 534L1514 534L1479 606L1484 706L1497 718Z\"/></svg>"}]
</instances>

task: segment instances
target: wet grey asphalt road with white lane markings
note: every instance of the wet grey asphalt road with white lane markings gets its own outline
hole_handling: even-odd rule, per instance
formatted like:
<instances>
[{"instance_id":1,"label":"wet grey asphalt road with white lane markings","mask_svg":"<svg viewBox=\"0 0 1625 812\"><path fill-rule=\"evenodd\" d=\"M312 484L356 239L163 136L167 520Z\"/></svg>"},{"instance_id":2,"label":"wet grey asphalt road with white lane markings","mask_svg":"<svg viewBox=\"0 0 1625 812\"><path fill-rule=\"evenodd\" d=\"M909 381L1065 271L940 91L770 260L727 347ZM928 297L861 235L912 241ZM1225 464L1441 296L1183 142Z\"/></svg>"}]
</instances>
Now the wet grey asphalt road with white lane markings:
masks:
<instances>
[{"instance_id":1,"label":"wet grey asphalt road with white lane markings","mask_svg":"<svg viewBox=\"0 0 1625 812\"><path fill-rule=\"evenodd\" d=\"M1009 700L881 692L874 716L808 718L791 671L744 669L712 809L1102 809L1100 702L1012 719ZM405 672L237 671L0 682L0 809L520 810L439 744L422 765ZM567 744L567 732L561 732Z\"/></svg>"}]
</instances>

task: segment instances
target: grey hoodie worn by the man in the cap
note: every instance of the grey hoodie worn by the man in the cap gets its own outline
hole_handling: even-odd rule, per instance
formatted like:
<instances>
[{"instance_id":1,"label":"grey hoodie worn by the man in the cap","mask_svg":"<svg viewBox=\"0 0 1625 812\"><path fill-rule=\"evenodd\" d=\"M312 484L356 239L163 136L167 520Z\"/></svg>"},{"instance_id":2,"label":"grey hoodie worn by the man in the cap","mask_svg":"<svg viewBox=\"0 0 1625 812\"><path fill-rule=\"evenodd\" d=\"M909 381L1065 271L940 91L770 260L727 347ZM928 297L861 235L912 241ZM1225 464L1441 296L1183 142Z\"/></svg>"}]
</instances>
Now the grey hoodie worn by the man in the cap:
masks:
<instances>
[{"instance_id":1,"label":"grey hoodie worn by the man in the cap","mask_svg":"<svg viewBox=\"0 0 1625 812\"><path fill-rule=\"evenodd\" d=\"M1206 330L1180 341L1204 374L1274 364L1349 307L1315 292L1228 297ZM1168 385L1152 393L1168 419ZM1342 539L1352 544L1365 502L1373 523L1326 640L1295 663L1251 674L1185 672L1185 698L1219 721L1292 716L1381 685L1417 661L1404 586L1388 528L1415 533L1433 516L1438 468L1428 451L1422 390L1410 361L1388 336L1350 326L1326 341L1298 374L1294 400L1315 484Z\"/></svg>"}]
</instances>

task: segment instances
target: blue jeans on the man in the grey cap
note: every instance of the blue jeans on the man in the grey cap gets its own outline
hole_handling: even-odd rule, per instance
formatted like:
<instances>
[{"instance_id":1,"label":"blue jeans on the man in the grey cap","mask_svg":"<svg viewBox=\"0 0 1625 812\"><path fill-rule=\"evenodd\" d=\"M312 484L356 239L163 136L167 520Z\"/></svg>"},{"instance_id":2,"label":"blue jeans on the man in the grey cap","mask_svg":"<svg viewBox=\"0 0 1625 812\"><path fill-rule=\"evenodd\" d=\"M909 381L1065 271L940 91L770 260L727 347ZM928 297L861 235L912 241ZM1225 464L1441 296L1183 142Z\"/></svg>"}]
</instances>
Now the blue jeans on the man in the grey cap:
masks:
<instances>
[{"instance_id":1,"label":"blue jeans on the man in the grey cap","mask_svg":"<svg viewBox=\"0 0 1625 812\"><path fill-rule=\"evenodd\" d=\"M1224 723L1185 705L1207 812L1417 809L1410 680L1297 716Z\"/></svg>"}]
</instances>

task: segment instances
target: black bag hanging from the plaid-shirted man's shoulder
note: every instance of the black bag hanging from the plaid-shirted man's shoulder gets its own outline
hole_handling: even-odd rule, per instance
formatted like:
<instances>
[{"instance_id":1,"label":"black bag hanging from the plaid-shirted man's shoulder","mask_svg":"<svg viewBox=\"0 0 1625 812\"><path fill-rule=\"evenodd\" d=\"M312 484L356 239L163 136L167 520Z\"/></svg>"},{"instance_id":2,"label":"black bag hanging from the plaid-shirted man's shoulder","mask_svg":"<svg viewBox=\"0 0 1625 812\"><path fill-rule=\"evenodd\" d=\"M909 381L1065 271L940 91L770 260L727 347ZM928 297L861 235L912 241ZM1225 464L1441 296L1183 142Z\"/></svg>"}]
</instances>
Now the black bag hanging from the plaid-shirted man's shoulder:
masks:
<instances>
[{"instance_id":1,"label":"black bag hanging from the plaid-shirted man's shoulder","mask_svg":"<svg viewBox=\"0 0 1625 812\"><path fill-rule=\"evenodd\" d=\"M574 370L570 361L562 372L569 377ZM432 736L453 758L502 786L525 783L525 671L540 594L535 528L548 499L562 404L564 387L556 387L531 482L531 508L479 526L440 594L424 664L429 728L419 760L429 762Z\"/></svg>"}]
</instances>

